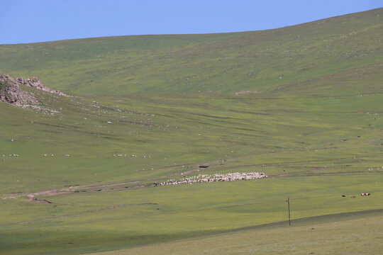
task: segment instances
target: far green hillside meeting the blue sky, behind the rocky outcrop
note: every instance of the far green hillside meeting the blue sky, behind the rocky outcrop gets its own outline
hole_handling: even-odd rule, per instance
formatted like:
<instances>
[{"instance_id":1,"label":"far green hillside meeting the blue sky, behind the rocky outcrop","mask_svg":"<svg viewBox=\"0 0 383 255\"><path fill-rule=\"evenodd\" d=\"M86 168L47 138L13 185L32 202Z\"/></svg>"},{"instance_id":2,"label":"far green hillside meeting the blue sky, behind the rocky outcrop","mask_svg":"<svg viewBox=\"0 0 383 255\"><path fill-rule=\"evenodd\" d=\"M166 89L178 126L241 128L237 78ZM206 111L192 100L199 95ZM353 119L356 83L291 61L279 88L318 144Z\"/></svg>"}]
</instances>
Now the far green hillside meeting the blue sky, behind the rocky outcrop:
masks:
<instances>
[{"instance_id":1,"label":"far green hillside meeting the blue sky, behind the rocky outcrop","mask_svg":"<svg viewBox=\"0 0 383 255\"><path fill-rule=\"evenodd\" d=\"M378 8L255 32L0 45L0 70L76 94L267 91L382 62L382 30Z\"/></svg>"}]
</instances>

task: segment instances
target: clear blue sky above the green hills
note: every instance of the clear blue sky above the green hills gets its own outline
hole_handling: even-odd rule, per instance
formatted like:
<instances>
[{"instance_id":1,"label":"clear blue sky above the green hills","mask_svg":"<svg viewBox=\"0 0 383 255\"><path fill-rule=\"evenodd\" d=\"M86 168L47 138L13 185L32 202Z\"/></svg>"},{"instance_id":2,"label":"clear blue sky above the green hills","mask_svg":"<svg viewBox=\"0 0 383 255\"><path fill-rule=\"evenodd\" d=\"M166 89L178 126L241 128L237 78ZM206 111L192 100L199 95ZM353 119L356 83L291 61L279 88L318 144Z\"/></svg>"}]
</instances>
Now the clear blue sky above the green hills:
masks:
<instances>
[{"instance_id":1,"label":"clear blue sky above the green hills","mask_svg":"<svg viewBox=\"0 0 383 255\"><path fill-rule=\"evenodd\" d=\"M0 44L264 30L382 7L382 0L0 0Z\"/></svg>"}]
</instances>

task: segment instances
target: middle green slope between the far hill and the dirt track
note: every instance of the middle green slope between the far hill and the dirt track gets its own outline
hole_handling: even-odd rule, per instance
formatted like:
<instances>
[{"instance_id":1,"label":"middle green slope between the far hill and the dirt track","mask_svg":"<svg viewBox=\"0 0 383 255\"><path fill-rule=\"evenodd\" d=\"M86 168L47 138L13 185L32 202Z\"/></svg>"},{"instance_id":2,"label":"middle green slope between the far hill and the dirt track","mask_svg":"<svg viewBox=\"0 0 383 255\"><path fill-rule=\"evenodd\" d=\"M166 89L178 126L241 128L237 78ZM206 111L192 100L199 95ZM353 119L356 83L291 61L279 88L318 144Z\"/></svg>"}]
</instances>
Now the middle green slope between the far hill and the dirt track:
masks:
<instances>
[{"instance_id":1,"label":"middle green slope between the far hill and the dirt track","mask_svg":"<svg viewBox=\"0 0 383 255\"><path fill-rule=\"evenodd\" d=\"M153 101L148 96L43 96L48 102L56 99L48 107L62 108L60 113L0 108L3 196L146 180L198 169L199 164L211 165L201 170L207 173L256 170L270 175L310 167L368 172L382 165L381 95L320 98L316 107L308 97L270 99L265 105L257 96L239 103L219 95L209 101L198 95ZM93 107L95 98L100 108ZM339 107L328 107L333 104ZM274 111L283 106L283 112Z\"/></svg>"}]
</instances>

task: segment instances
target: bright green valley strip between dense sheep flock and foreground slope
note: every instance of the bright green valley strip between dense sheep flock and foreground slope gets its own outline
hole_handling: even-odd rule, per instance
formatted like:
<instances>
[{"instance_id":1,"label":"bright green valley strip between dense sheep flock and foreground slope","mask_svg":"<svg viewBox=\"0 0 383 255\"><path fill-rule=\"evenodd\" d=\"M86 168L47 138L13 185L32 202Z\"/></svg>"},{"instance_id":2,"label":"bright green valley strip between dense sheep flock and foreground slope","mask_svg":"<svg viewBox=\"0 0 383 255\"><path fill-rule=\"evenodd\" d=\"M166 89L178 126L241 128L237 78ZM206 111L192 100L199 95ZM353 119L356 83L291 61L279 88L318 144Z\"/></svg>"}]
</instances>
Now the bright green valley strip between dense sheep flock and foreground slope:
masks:
<instances>
[{"instance_id":1,"label":"bright green valley strip between dense sheep flock and foreground slope","mask_svg":"<svg viewBox=\"0 0 383 255\"><path fill-rule=\"evenodd\" d=\"M48 198L54 204L7 201L13 214L3 212L1 218L13 221L2 226L2 254L82 254L272 222L282 221L287 227L287 196L293 226L301 217L379 208L382 174L356 177L270 178L74 193ZM372 196L359 196L357 192L366 189ZM353 195L357 197L350 198ZM21 210L28 210L30 222L22 222L26 215Z\"/></svg>"}]
</instances>

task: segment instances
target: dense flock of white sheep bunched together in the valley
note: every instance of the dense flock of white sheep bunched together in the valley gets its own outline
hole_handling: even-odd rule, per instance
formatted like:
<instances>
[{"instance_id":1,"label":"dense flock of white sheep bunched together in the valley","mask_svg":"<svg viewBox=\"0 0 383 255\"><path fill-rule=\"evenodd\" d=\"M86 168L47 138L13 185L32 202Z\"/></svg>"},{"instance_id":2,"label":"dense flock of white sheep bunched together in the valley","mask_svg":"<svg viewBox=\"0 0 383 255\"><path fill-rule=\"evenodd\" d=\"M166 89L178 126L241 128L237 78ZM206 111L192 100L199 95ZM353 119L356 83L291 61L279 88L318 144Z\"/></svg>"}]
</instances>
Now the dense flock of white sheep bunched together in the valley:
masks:
<instances>
[{"instance_id":1,"label":"dense flock of white sheep bunched together in the valley","mask_svg":"<svg viewBox=\"0 0 383 255\"><path fill-rule=\"evenodd\" d=\"M250 172L250 173L229 173L229 174L199 174L197 176L186 177L180 179L179 181L169 180L158 183L158 185L174 185L181 183L204 183L204 182L213 182L213 181L235 181L235 180L252 180L252 179L261 179L265 178L267 175L260 172ZM155 183L157 186L157 183Z\"/></svg>"}]
</instances>

